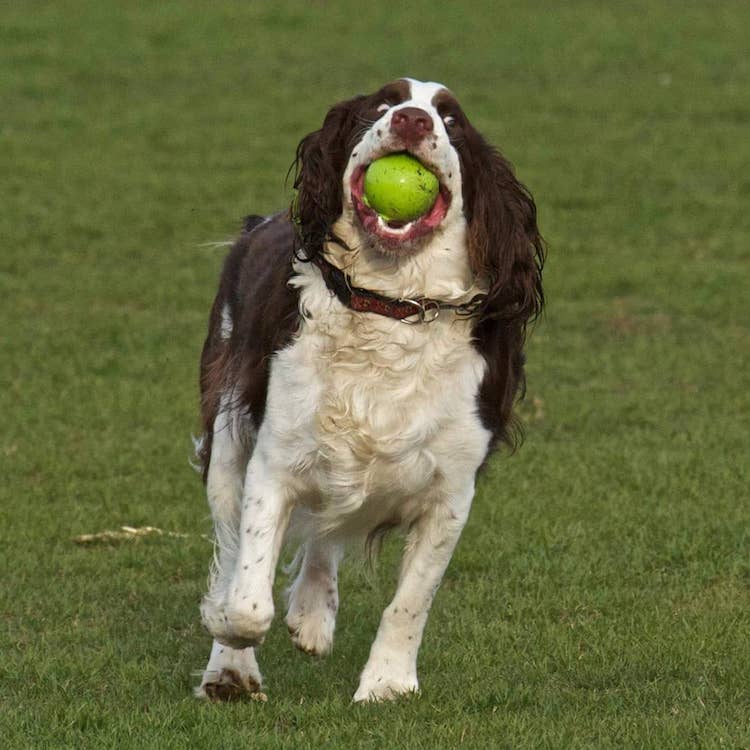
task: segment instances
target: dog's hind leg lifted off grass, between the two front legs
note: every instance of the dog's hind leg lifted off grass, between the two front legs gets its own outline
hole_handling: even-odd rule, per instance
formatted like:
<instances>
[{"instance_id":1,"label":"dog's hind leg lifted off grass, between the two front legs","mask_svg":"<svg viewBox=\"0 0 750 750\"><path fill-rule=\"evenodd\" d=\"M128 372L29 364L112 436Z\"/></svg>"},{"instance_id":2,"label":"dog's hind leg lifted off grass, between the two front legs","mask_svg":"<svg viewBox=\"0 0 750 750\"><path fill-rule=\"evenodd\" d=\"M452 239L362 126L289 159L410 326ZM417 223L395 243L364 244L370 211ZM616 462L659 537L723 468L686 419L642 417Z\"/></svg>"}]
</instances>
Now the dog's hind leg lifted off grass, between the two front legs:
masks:
<instances>
[{"instance_id":1,"label":"dog's hind leg lifted off grass, between the two front legs","mask_svg":"<svg viewBox=\"0 0 750 750\"><path fill-rule=\"evenodd\" d=\"M333 647L339 606L337 571L343 556L340 544L310 539L294 583L289 588L286 625L294 645L308 654L324 656Z\"/></svg>"}]
</instances>

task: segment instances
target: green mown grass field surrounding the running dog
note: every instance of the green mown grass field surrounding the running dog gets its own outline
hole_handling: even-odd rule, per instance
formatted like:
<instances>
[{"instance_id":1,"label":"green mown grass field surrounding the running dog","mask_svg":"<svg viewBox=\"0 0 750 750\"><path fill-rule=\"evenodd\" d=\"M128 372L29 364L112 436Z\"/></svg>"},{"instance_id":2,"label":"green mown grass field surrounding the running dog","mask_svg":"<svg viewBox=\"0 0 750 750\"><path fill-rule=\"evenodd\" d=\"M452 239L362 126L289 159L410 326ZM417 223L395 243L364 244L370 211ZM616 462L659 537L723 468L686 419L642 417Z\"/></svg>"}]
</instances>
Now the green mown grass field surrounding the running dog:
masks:
<instances>
[{"instance_id":1,"label":"green mown grass field surrounding the running dog","mask_svg":"<svg viewBox=\"0 0 750 750\"><path fill-rule=\"evenodd\" d=\"M0 744L750 747L748 28L744 2L3 4ZM392 539L344 572L332 657L277 618L268 702L199 703L206 243L405 74L537 200L527 440L480 481L421 696L350 704ZM124 524L188 536L72 541Z\"/></svg>"}]
</instances>

